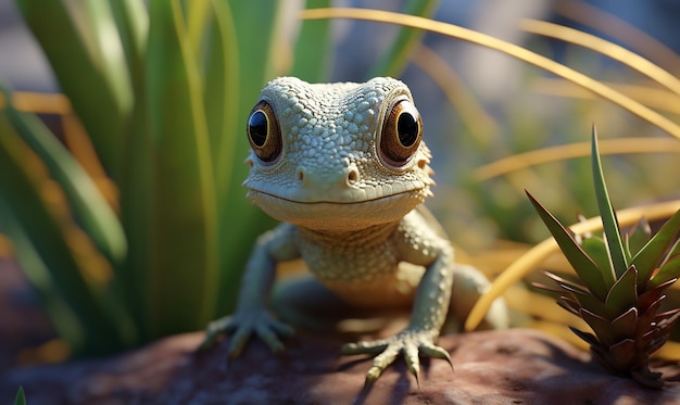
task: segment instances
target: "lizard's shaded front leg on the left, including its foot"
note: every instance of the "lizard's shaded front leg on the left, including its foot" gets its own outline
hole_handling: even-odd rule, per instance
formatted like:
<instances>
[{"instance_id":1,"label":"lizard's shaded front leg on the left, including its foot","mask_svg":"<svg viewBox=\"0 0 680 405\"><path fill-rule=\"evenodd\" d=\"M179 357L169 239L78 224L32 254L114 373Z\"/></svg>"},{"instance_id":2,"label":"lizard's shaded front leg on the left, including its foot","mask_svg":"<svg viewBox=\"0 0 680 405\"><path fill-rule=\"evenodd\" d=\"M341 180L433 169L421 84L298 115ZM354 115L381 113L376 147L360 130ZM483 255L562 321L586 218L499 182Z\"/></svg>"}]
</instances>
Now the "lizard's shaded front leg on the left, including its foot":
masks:
<instances>
[{"instance_id":1,"label":"lizard's shaded front leg on the left, including its foot","mask_svg":"<svg viewBox=\"0 0 680 405\"><path fill-rule=\"evenodd\" d=\"M284 350L279 338L290 337L293 329L276 319L267 305L276 264L299 256L293 242L294 233L292 225L281 224L257 239L243 274L235 314L209 324L201 349L210 347L223 333L232 333L229 355L236 357L254 332L273 352Z\"/></svg>"}]
</instances>

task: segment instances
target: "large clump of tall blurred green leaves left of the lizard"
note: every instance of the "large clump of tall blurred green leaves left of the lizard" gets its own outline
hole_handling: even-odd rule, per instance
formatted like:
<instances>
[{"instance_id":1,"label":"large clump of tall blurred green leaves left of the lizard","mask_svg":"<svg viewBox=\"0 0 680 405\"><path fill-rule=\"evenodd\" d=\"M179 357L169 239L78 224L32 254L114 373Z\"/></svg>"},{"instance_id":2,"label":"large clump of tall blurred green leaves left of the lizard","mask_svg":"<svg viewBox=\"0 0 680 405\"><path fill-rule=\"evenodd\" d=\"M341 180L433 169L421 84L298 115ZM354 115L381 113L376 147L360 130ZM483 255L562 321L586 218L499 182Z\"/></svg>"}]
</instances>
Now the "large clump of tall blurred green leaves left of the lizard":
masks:
<instances>
[{"instance_id":1,"label":"large clump of tall blurred green leaves left of the lizard","mask_svg":"<svg viewBox=\"0 0 680 405\"><path fill-rule=\"evenodd\" d=\"M268 79L325 79L330 22L302 23L291 61L288 2L17 4L117 188L106 200L36 116L0 111L0 231L60 336L104 354L229 313L274 224L243 195L243 123ZM403 66L419 34L401 33L376 74Z\"/></svg>"}]
</instances>

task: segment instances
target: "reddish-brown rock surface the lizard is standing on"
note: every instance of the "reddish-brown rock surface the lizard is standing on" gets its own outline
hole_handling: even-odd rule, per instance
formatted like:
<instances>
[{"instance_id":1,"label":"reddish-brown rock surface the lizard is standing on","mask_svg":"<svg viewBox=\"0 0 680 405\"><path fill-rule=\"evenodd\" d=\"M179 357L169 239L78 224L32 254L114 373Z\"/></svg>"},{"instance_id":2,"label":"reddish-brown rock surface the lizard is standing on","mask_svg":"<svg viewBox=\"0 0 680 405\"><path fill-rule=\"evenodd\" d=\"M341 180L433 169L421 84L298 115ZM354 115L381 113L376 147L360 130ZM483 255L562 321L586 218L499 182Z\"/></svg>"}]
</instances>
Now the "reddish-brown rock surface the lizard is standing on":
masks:
<instances>
[{"instance_id":1,"label":"reddish-brown rock surface the lizard is standing on","mask_svg":"<svg viewBox=\"0 0 680 405\"><path fill-rule=\"evenodd\" d=\"M339 339L300 334L284 355L260 342L229 359L227 342L197 353L202 332L112 358L14 369L0 398L24 385L38 404L680 404L680 385L653 391L609 376L590 355L527 329L446 336L455 371L423 359L420 387L398 359L368 392L370 362L339 356Z\"/></svg>"}]
</instances>

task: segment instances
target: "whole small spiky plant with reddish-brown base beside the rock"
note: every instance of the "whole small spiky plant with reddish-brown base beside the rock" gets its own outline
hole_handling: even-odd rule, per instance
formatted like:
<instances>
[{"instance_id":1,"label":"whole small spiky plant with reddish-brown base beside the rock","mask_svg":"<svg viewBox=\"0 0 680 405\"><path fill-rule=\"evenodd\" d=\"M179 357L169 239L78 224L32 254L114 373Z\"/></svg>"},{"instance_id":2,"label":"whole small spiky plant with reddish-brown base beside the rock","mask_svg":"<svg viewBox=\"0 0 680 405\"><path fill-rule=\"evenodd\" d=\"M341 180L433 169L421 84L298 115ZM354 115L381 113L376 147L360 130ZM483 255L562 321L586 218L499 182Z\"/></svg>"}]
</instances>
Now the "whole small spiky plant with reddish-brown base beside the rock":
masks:
<instances>
[{"instance_id":1,"label":"whole small spiky plant with reddish-brown base beside the rock","mask_svg":"<svg viewBox=\"0 0 680 405\"><path fill-rule=\"evenodd\" d=\"M660 372L650 370L650 357L668 339L680 308L659 312L664 291L680 276L680 211L652 236L646 223L621 238L605 186L592 134L592 169L603 238L576 236L563 226L529 192L531 203L577 274L570 281L546 273L559 288L537 287L561 294L558 304L582 318L593 333L571 330L588 344L604 368L632 377L650 388L664 385Z\"/></svg>"}]
</instances>

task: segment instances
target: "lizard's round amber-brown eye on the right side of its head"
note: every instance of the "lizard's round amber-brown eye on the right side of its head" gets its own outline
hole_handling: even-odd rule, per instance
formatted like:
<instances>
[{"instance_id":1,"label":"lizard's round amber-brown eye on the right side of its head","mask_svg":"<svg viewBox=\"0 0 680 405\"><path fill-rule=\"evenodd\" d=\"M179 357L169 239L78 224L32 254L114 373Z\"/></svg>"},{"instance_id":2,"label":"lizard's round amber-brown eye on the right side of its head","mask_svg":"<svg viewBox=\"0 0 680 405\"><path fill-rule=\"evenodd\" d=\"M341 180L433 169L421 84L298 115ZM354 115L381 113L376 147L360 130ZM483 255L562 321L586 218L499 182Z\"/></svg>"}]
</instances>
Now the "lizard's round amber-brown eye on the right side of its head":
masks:
<instances>
[{"instance_id":1,"label":"lizard's round amber-brown eye on the right side of its head","mask_svg":"<svg viewBox=\"0 0 680 405\"><path fill-rule=\"evenodd\" d=\"M416 152L423 136L420 114L411 100L396 102L382 123L380 151L388 163L403 165Z\"/></svg>"}]
</instances>

